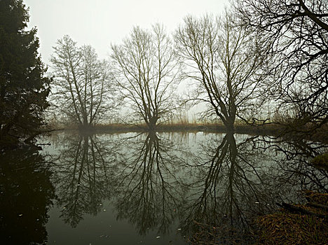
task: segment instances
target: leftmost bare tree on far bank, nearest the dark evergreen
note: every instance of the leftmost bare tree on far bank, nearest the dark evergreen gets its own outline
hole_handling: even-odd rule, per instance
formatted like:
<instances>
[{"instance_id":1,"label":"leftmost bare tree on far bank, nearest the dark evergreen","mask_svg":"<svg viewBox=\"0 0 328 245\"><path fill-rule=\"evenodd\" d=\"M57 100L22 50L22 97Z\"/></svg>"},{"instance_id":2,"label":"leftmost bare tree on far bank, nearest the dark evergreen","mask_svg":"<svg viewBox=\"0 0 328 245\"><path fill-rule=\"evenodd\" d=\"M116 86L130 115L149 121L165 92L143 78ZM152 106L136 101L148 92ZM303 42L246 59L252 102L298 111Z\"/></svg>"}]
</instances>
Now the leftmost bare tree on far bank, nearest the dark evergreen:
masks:
<instances>
[{"instance_id":1,"label":"leftmost bare tree on far bank, nearest the dark evergreen","mask_svg":"<svg viewBox=\"0 0 328 245\"><path fill-rule=\"evenodd\" d=\"M57 41L51 57L55 69L55 103L79 127L91 127L116 108L108 62L90 45L78 47L69 36Z\"/></svg>"}]
</instances>

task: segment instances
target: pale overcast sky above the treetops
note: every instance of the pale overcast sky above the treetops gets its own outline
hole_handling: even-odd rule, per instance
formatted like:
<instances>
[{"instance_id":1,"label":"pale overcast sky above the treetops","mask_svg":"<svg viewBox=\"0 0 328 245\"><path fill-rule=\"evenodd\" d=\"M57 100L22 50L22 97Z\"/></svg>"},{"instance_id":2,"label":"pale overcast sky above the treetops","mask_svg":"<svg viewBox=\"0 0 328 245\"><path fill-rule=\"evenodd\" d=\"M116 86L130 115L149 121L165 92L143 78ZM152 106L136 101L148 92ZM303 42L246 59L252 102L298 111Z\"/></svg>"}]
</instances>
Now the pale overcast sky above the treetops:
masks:
<instances>
[{"instance_id":1,"label":"pale overcast sky above the treetops","mask_svg":"<svg viewBox=\"0 0 328 245\"><path fill-rule=\"evenodd\" d=\"M133 26L160 22L173 31L188 14L221 13L228 0L25 0L29 29L36 26L42 60L49 64L53 46L65 34L90 44L107 57L111 43L121 43Z\"/></svg>"}]
</instances>

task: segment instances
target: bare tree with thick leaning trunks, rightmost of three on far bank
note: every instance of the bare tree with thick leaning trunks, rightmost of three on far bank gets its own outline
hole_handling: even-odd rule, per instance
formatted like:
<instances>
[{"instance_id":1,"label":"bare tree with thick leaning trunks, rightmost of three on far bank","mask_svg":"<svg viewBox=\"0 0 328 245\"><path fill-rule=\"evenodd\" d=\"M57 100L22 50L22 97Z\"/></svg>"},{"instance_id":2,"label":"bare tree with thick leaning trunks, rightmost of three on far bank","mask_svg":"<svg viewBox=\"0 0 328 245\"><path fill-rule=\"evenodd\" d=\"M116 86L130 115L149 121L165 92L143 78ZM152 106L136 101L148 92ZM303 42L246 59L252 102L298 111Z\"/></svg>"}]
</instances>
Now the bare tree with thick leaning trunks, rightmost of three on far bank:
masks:
<instances>
[{"instance_id":1,"label":"bare tree with thick leaning trunks, rightmost of three on far bank","mask_svg":"<svg viewBox=\"0 0 328 245\"><path fill-rule=\"evenodd\" d=\"M191 99L210 104L207 113L219 116L233 131L236 116L243 118L245 110L254 109L264 79L258 72L266 59L261 39L247 34L226 13L221 19L187 16L175 41L186 65L184 77L198 85Z\"/></svg>"}]
</instances>

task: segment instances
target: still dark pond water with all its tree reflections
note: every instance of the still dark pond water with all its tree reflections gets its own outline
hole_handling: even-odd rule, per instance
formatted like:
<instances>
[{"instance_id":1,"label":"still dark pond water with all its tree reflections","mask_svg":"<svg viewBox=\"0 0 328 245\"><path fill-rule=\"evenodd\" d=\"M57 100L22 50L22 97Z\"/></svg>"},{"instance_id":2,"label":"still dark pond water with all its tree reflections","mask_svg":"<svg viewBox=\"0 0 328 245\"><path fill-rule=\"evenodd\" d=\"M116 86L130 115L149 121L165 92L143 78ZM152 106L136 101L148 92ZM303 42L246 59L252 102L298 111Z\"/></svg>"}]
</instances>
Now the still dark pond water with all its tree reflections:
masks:
<instances>
[{"instance_id":1,"label":"still dark pond water with all its tree reflections","mask_svg":"<svg viewBox=\"0 0 328 245\"><path fill-rule=\"evenodd\" d=\"M247 134L56 133L0 156L1 244L251 242L276 202L327 191L321 144ZM196 236L197 237L197 236ZM199 237L199 236L198 236Z\"/></svg>"}]
</instances>

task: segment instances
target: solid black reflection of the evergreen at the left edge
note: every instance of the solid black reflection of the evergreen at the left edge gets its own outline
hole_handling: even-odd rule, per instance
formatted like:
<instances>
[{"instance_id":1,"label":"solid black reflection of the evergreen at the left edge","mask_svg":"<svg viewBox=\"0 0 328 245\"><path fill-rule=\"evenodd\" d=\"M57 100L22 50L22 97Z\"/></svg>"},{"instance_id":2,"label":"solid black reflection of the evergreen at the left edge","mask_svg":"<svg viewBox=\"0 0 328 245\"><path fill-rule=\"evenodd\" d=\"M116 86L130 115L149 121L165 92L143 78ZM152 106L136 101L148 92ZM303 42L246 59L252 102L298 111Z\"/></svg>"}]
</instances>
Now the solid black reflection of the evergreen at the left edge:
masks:
<instances>
[{"instance_id":1,"label":"solid black reflection of the evergreen at the left edge","mask_svg":"<svg viewBox=\"0 0 328 245\"><path fill-rule=\"evenodd\" d=\"M0 244L46 244L55 190L39 148L0 155Z\"/></svg>"}]
</instances>

